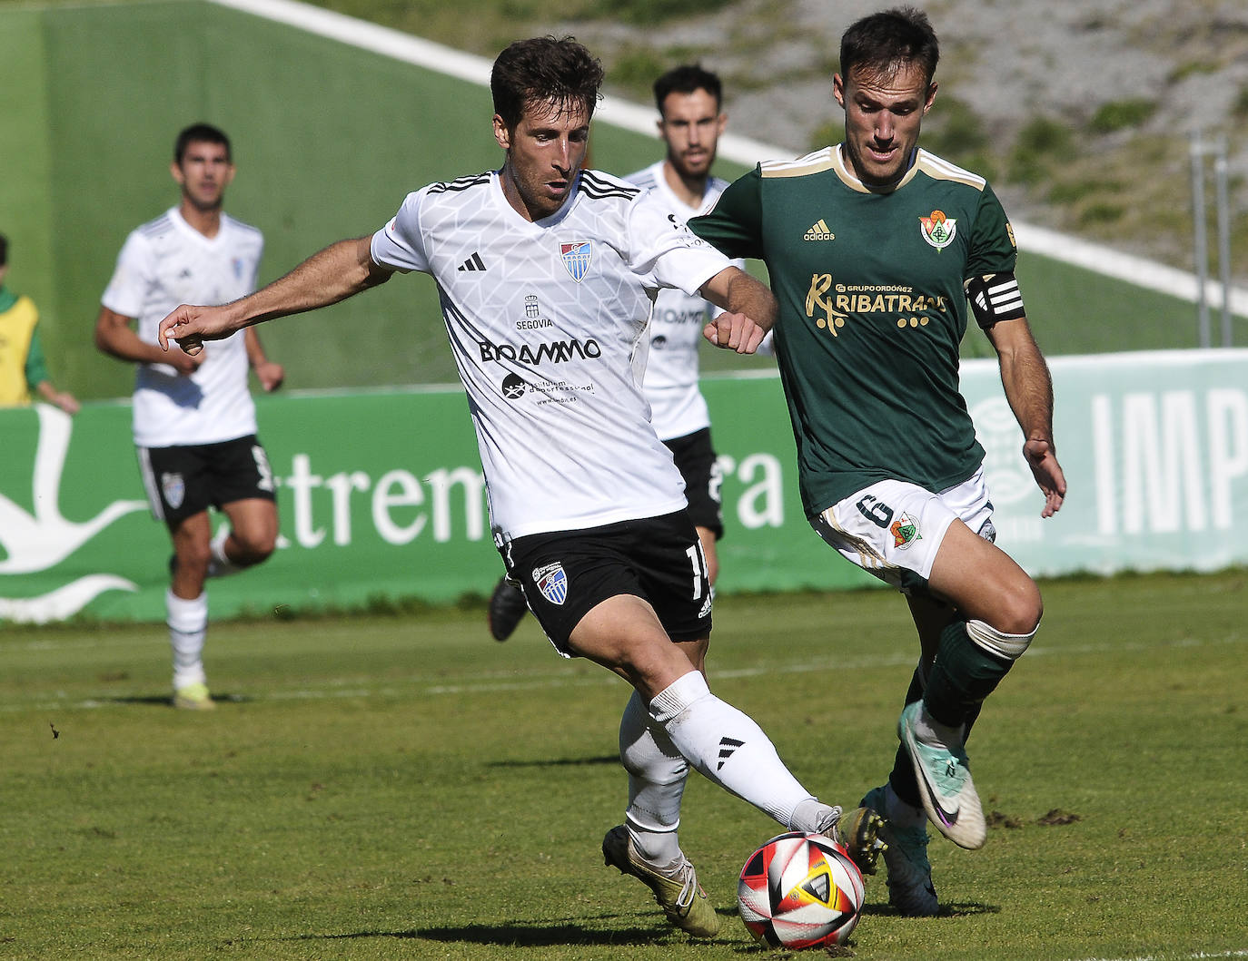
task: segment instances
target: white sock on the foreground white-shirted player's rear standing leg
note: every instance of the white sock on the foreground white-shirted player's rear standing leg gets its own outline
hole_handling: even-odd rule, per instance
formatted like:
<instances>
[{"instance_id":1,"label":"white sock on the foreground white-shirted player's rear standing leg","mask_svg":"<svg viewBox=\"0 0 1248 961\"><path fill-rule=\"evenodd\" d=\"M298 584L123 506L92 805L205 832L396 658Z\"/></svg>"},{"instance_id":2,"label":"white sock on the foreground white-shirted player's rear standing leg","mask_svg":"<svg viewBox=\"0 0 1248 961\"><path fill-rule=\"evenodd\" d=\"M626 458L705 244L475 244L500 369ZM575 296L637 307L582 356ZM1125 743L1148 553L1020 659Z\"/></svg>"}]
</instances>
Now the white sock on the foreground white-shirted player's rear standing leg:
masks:
<instances>
[{"instance_id":1,"label":"white sock on the foreground white-shirted player's rear standing leg","mask_svg":"<svg viewBox=\"0 0 1248 961\"><path fill-rule=\"evenodd\" d=\"M684 855L676 829L689 778L686 762L635 691L620 718L620 762L628 772L624 821L641 860L661 866Z\"/></svg>"}]
</instances>

